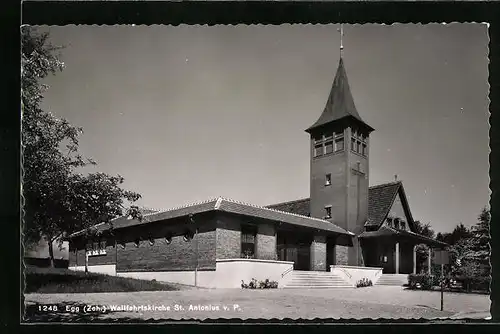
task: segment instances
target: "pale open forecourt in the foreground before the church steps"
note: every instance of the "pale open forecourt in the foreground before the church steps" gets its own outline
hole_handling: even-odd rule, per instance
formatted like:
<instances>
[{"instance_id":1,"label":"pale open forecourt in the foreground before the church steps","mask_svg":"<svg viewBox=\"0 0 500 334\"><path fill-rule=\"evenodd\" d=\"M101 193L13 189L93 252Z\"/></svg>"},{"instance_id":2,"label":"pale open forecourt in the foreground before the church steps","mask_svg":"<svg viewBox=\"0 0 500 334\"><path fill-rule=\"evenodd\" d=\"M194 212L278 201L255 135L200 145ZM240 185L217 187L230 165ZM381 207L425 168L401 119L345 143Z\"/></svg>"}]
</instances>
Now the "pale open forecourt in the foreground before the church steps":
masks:
<instances>
[{"instance_id":1,"label":"pale open forecourt in the foreground before the church steps","mask_svg":"<svg viewBox=\"0 0 500 334\"><path fill-rule=\"evenodd\" d=\"M488 314L490 307L487 295L445 293L442 312L439 310L439 292L409 291L391 286L359 289L197 289L128 293L28 294L25 298L27 305L34 303L105 305L108 311L110 305L161 307L157 310L95 313L92 321L108 318L200 320L207 318L416 319L462 316L467 318L470 314ZM201 306L201 309L196 309L198 306ZM78 317L79 314L72 316ZM35 312L34 317L30 319L47 321L47 316L50 314L44 315L45 318L40 318L41 315ZM64 316L71 319L70 314Z\"/></svg>"}]
</instances>

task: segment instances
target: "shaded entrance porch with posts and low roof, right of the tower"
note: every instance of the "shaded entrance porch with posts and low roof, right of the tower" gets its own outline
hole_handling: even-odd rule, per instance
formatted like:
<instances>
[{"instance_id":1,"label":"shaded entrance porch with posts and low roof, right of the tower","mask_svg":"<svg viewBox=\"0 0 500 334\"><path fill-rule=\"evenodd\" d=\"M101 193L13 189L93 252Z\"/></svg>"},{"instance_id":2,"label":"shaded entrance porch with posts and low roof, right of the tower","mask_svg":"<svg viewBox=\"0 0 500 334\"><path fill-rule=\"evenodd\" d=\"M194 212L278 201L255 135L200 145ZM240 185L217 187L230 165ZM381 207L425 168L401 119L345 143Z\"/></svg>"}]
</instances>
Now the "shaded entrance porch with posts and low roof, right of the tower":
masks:
<instances>
[{"instance_id":1,"label":"shaded entrance porch with posts and low roof, right of the tower","mask_svg":"<svg viewBox=\"0 0 500 334\"><path fill-rule=\"evenodd\" d=\"M363 232L359 239L365 265L381 267L384 274L417 273L416 247L428 247L427 267L432 268L432 250L444 249L448 245L422 235L404 230L381 227L378 231Z\"/></svg>"}]
</instances>

